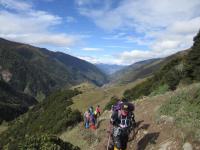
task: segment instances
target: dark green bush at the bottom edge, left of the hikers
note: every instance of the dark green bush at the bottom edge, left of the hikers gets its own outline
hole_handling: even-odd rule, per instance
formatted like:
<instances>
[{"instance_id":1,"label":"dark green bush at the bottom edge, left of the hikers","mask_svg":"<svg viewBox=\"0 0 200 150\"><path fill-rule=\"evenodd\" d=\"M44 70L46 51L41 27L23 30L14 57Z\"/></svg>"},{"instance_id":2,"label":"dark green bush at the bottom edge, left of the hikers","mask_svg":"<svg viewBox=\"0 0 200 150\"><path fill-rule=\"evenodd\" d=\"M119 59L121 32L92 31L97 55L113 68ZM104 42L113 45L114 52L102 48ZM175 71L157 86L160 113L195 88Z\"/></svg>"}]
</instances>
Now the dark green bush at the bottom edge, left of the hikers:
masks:
<instances>
[{"instance_id":1,"label":"dark green bush at the bottom edge, left of the hikers","mask_svg":"<svg viewBox=\"0 0 200 150\"><path fill-rule=\"evenodd\" d=\"M26 136L26 139L19 143L19 150L80 150L79 147L75 147L68 142L63 142L56 136L34 135Z\"/></svg>"}]
</instances>

